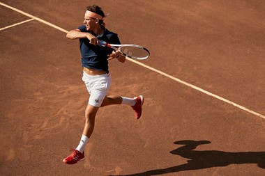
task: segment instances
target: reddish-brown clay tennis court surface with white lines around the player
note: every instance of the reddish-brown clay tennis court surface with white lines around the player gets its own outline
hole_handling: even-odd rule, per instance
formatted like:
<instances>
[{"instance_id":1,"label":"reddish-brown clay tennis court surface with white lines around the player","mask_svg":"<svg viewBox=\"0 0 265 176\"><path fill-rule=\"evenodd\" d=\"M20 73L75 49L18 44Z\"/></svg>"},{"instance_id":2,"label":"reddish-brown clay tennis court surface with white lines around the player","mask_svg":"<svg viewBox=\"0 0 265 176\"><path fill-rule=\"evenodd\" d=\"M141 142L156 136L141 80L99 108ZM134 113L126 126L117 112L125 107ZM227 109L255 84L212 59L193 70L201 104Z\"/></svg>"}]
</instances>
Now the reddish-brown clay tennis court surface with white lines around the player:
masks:
<instances>
[{"instance_id":1,"label":"reddish-brown clay tennis court surface with white lines around the player","mask_svg":"<svg viewBox=\"0 0 265 176\"><path fill-rule=\"evenodd\" d=\"M109 61L110 95L85 160L76 147L89 98L78 40L96 3L145 61ZM265 175L265 1L8 1L0 6L0 175ZM8 5L8 6L6 6Z\"/></svg>"}]
</instances>

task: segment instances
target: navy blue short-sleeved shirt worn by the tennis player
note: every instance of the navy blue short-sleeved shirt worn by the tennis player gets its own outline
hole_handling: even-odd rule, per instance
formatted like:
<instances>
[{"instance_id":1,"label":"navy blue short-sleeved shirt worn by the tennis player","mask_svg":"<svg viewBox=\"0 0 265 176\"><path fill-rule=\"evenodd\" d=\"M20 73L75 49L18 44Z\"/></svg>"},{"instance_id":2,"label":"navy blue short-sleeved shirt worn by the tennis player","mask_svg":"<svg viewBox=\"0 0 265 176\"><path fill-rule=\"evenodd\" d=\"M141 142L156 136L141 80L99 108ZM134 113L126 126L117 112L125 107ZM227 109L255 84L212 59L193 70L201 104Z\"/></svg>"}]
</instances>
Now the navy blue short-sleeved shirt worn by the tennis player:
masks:
<instances>
[{"instance_id":1,"label":"navy blue short-sleeved shirt worn by the tennis player","mask_svg":"<svg viewBox=\"0 0 265 176\"><path fill-rule=\"evenodd\" d=\"M82 32L91 33L92 35L95 35L91 31L86 31L85 25L79 26L78 29ZM96 36L98 40L104 40L105 42L112 44L121 44L116 33L112 33L107 29L104 30L105 31L103 34ZM102 47L100 45L91 45L89 43L88 38L80 38L79 47L81 51L81 61L83 67L109 72L107 58L109 54L112 54L112 48Z\"/></svg>"}]
</instances>

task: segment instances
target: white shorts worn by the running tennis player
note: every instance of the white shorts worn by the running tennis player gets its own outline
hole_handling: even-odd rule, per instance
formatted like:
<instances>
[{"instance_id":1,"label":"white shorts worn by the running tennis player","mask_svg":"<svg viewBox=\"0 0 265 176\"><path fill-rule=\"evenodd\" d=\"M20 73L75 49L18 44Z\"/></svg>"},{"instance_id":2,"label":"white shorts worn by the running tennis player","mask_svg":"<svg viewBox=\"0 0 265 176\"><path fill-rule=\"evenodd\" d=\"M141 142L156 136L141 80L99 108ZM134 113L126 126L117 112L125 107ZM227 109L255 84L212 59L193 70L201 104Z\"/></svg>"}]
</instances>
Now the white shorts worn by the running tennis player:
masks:
<instances>
[{"instance_id":1,"label":"white shorts worn by the running tennis player","mask_svg":"<svg viewBox=\"0 0 265 176\"><path fill-rule=\"evenodd\" d=\"M110 74L90 75L83 72L82 81L89 91L89 104L100 107L112 83Z\"/></svg>"}]
</instances>

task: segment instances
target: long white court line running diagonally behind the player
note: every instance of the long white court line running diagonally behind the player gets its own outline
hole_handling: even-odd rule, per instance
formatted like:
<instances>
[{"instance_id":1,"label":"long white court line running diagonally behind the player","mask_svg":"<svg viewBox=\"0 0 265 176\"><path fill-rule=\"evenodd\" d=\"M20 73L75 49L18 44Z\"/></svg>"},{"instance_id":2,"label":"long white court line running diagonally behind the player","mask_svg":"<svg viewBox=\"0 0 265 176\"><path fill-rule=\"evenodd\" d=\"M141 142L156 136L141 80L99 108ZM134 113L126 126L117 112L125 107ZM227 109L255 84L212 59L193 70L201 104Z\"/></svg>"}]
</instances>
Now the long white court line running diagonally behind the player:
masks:
<instances>
[{"instance_id":1,"label":"long white court line running diagonally behind the player","mask_svg":"<svg viewBox=\"0 0 265 176\"><path fill-rule=\"evenodd\" d=\"M5 3L1 3L1 2L0 2L0 5L5 6L6 8L10 8L10 9L12 9L12 10L15 10L15 11L18 12L18 13L22 13L23 15L26 15L27 17L31 17L31 18L33 18L33 19L36 19L38 22L42 22L42 23L44 23L44 24L47 24L48 26L52 26L53 28L58 29L59 31L63 31L64 33L68 33L68 31L66 31L65 29L62 29L62 28L60 28L59 26L56 26L56 25L54 25L54 24L52 24L52 23L50 23L50 22L46 22L45 20L40 19L40 18L38 18L38 17L34 17L33 15L30 15L29 13L24 13L22 10L19 10L19 9L17 9L17 8L13 8L13 7L8 6L8 5L6 5ZM252 111L252 110L250 110L250 109L247 109L247 108L245 108L244 106L241 106L241 105L239 105L239 104L236 104L236 103L234 103L234 102L229 101L228 99L225 99L225 98L223 98L223 97L220 97L220 96L218 96L218 95L215 95L215 94L213 94L213 93L210 93L210 92L208 92L207 90L204 90L204 89L202 89L202 88L199 88L199 87L197 87L197 86L192 85L191 83L187 83L187 82L185 82L185 81L182 81L181 79L178 79L178 78L176 78L176 77L172 77L171 75L169 75L169 74L167 74L167 73L165 73L165 72L162 72L162 71L160 71L160 70L157 70L156 68L153 68L153 67L150 67L150 66L148 66L148 65L145 65L144 63L140 63L140 62L135 61L135 60L133 60L133 59L131 59L131 58L127 58L127 59L128 59L128 61L131 61L132 63L136 63L137 65L141 65L142 67L146 67L147 69L152 70L153 72L157 72L158 74L161 74L161 75L163 75L163 76L165 76L165 77L167 77L167 78L169 78L169 79L173 79L174 81L179 82L179 83L182 83L182 84L185 85L185 86L188 86L188 87L190 87L190 88L193 88L193 89L195 89L195 90L198 90L198 91L201 92L201 93L204 93L204 94L209 95L209 96L211 96L211 97L215 97L216 99L220 99L222 102L226 102L227 104L231 104L231 105L233 105L233 106L236 106L237 108L242 109L243 111L247 111L248 113L252 113L253 115L257 115L258 117L265 119L265 115L262 115L262 114L260 114L260 113L255 112L255 111Z\"/></svg>"}]
</instances>

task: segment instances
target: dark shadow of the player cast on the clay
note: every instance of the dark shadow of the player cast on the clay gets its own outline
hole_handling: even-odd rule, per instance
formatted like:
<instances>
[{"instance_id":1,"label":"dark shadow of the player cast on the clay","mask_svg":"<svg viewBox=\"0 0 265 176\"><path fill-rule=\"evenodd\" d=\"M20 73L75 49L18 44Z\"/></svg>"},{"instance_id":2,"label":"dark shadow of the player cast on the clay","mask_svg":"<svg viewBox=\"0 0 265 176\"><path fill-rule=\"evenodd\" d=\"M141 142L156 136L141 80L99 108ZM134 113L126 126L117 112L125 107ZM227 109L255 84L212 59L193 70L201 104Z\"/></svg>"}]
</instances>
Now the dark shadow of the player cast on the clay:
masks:
<instances>
[{"instance_id":1,"label":"dark shadow of the player cast on the clay","mask_svg":"<svg viewBox=\"0 0 265 176\"><path fill-rule=\"evenodd\" d=\"M184 145L170 153L189 159L187 163L169 168L148 170L127 176L162 175L184 170L198 170L203 168L222 167L229 164L257 163L259 168L265 169L265 152L222 152L217 150L195 150L198 145L209 144L210 141L176 141L174 144Z\"/></svg>"}]
</instances>

